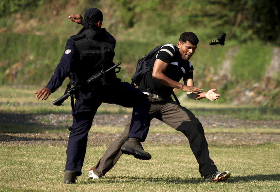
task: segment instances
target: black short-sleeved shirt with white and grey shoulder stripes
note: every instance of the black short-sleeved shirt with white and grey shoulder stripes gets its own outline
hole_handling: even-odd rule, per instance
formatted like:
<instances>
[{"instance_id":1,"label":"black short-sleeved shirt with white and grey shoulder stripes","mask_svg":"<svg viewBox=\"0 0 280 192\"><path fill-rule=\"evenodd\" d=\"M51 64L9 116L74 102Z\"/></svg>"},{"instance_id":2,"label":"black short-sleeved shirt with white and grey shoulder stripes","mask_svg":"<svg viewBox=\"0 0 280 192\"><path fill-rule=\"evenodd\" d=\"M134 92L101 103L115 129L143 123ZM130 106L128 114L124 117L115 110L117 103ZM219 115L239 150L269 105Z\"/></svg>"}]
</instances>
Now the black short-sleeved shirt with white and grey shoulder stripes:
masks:
<instances>
[{"instance_id":1,"label":"black short-sleeved shirt with white and grey shoulder stripes","mask_svg":"<svg viewBox=\"0 0 280 192\"><path fill-rule=\"evenodd\" d=\"M168 78L177 82L182 78L183 80L193 78L193 65L189 61L181 60L179 49L175 45L163 45L150 62L154 63L156 59L160 59L169 64L164 71L164 74ZM162 98L170 97L173 88L167 87L156 80L153 80L152 73L153 71L149 71L144 75L143 81L141 81L138 89L142 92L159 95Z\"/></svg>"}]
</instances>

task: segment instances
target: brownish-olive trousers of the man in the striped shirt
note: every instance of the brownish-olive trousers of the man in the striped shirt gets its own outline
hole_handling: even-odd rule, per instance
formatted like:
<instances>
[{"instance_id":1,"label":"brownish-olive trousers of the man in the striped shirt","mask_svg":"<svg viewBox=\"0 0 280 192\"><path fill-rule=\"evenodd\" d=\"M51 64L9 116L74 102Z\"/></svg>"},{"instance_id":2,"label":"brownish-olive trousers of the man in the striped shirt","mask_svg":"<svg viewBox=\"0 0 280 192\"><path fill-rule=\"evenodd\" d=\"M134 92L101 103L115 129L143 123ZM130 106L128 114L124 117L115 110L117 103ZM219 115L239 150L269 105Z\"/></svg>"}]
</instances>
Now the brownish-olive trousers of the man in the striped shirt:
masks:
<instances>
[{"instance_id":1,"label":"brownish-olive trousers of the man in the striped shirt","mask_svg":"<svg viewBox=\"0 0 280 192\"><path fill-rule=\"evenodd\" d=\"M216 165L209 157L204 130L195 115L180 104L177 104L171 97L168 99L153 99L149 96L149 99L151 103L150 119L159 119L175 130L181 131L188 138L190 148L199 164L201 176L218 171ZM99 177L104 176L112 169L122 155L120 148L127 140L130 123L131 114L127 120L124 132L119 138L110 143L103 157L92 168ZM168 160L166 159L166 161Z\"/></svg>"}]
</instances>

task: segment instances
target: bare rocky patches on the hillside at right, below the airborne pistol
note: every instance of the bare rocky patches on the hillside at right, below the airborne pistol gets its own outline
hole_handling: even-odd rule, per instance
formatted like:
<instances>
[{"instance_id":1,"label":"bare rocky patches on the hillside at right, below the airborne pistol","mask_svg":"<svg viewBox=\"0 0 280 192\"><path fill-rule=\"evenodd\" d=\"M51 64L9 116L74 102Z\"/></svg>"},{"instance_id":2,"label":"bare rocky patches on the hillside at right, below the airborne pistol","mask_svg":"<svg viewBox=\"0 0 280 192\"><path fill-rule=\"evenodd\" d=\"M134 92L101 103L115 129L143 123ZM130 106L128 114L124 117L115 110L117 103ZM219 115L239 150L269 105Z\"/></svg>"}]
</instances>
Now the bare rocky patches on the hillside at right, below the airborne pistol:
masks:
<instances>
[{"instance_id":1,"label":"bare rocky patches on the hillside at right, below the airborne pistol","mask_svg":"<svg viewBox=\"0 0 280 192\"><path fill-rule=\"evenodd\" d=\"M213 87L225 88L232 81L232 58L238 54L239 48L230 48L226 54L226 59L222 62L219 75L209 75L210 84ZM232 71L232 73L229 73ZM211 73L210 73L211 74ZM260 106L280 107L280 48L273 48L273 57L264 72L260 83L253 83L243 79L241 84L236 84L228 91L228 96L234 104L253 104Z\"/></svg>"}]
</instances>

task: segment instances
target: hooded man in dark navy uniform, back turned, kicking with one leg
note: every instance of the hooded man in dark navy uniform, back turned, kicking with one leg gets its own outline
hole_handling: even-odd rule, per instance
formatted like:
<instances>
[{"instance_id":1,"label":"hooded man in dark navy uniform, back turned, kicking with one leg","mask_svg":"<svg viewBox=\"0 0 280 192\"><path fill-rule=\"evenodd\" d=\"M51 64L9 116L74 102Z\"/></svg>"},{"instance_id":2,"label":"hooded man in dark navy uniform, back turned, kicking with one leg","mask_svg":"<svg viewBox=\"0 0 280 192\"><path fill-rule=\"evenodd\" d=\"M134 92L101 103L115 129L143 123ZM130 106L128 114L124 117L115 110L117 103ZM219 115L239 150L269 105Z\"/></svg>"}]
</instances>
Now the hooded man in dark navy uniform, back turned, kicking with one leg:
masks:
<instances>
[{"instance_id":1,"label":"hooded man in dark navy uniform, back turned, kicking with one leg","mask_svg":"<svg viewBox=\"0 0 280 192\"><path fill-rule=\"evenodd\" d=\"M97 8L88 9L81 21L82 28L77 35L71 36L47 86L36 91L37 99L46 100L56 91L69 74L74 74L75 83L86 81L101 70L114 66L114 48L116 41L105 28L101 28L102 12ZM73 124L69 128L67 161L64 170L64 183L75 183L80 176L87 147L87 135L92 126L94 115L101 103L118 104L133 108L129 138L130 154L139 159L150 159L143 150L150 126L150 103L147 95L129 83L121 82L115 71L108 72L92 86L77 95L72 110Z\"/></svg>"}]
</instances>

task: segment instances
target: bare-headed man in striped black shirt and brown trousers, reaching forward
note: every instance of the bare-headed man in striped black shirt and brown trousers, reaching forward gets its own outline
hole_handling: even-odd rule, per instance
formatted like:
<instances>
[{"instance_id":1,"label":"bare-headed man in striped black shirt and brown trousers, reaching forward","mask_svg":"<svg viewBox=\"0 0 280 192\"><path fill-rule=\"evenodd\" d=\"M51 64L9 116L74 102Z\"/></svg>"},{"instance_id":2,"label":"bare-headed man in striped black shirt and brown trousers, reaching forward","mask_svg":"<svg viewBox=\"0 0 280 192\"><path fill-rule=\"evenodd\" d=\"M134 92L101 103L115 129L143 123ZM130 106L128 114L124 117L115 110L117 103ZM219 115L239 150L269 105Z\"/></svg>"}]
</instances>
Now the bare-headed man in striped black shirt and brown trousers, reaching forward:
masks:
<instances>
[{"instance_id":1,"label":"bare-headed man in striped black shirt and brown trousers, reaching forward","mask_svg":"<svg viewBox=\"0 0 280 192\"><path fill-rule=\"evenodd\" d=\"M202 124L188 109L173 101L170 97L173 88L185 91L189 98L200 100L207 98L215 101L219 98L217 89L202 92L194 87L193 65L189 59L195 53L199 40L192 32L180 36L177 46L163 45L150 62L153 70L147 72L139 85L139 90L149 96L151 108L150 119L159 119L177 131L181 131L189 140L189 145L199 164L199 172L206 182L224 181L230 177L230 172L218 172L214 162L209 157L208 144L204 136ZM179 83L183 78L184 84ZM98 163L89 171L89 179L104 176L118 161L127 144L131 124L131 115L121 136L112 141Z\"/></svg>"}]
</instances>

